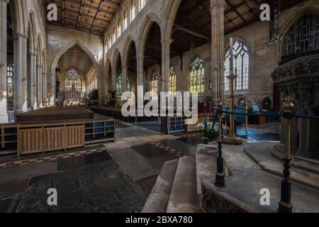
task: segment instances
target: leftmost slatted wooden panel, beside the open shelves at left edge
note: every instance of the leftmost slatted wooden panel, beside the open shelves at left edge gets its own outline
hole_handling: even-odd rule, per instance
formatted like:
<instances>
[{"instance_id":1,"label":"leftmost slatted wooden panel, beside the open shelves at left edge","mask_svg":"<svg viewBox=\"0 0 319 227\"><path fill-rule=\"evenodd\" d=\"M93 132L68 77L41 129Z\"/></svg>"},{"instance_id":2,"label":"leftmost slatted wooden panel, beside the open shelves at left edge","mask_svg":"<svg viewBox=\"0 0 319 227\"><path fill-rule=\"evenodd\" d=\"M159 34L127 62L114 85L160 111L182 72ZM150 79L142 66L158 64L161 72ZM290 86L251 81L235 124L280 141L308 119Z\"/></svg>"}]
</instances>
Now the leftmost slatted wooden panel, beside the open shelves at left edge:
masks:
<instances>
[{"instance_id":1,"label":"leftmost slatted wooden panel, beside the open shelves at left edge","mask_svg":"<svg viewBox=\"0 0 319 227\"><path fill-rule=\"evenodd\" d=\"M43 152L42 128L20 129L18 138L19 155Z\"/></svg>"}]
</instances>

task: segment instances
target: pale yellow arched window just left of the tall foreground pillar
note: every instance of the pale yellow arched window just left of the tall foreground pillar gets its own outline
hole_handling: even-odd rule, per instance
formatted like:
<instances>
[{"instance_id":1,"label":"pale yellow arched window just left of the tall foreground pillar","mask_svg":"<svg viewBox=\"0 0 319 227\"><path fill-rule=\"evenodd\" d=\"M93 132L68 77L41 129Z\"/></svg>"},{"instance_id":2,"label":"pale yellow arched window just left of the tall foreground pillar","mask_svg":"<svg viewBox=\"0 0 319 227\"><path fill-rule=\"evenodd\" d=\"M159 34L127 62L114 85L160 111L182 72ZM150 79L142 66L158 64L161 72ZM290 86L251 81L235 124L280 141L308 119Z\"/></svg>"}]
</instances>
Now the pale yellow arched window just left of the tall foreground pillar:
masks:
<instances>
[{"instance_id":1,"label":"pale yellow arched window just left of the tall foreground pillar","mask_svg":"<svg viewBox=\"0 0 319 227\"><path fill-rule=\"evenodd\" d=\"M202 94L205 92L205 68L203 60L196 57L191 64L191 73L189 74L189 92Z\"/></svg>"}]
</instances>

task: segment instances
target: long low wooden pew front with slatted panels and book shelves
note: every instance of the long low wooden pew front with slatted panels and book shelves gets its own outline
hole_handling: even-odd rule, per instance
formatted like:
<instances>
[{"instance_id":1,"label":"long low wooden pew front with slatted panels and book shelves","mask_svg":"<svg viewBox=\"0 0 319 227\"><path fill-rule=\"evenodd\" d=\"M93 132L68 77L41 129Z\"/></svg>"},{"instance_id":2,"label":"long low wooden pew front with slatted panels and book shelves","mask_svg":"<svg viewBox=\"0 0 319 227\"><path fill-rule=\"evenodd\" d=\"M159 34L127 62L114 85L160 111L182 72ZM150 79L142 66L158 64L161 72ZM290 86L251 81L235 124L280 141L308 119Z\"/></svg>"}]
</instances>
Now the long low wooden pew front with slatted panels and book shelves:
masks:
<instances>
[{"instance_id":1,"label":"long low wooden pew front with slatted panels and book shelves","mask_svg":"<svg viewBox=\"0 0 319 227\"><path fill-rule=\"evenodd\" d=\"M114 119L0 125L0 155L81 148L115 140Z\"/></svg>"}]
</instances>

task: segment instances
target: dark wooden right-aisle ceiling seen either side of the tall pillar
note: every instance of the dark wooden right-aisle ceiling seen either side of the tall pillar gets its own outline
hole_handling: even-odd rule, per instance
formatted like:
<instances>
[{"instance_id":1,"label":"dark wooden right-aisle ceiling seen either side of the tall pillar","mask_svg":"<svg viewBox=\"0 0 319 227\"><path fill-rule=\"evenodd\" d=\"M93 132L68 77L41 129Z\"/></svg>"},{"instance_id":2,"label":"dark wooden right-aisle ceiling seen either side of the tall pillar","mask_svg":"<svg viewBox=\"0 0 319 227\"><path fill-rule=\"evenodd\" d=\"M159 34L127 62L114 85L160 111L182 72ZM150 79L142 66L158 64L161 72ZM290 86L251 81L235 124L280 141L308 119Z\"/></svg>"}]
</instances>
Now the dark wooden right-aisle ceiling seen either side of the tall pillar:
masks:
<instances>
[{"instance_id":1,"label":"dark wooden right-aisle ceiling seen either side of the tall pillar","mask_svg":"<svg viewBox=\"0 0 319 227\"><path fill-rule=\"evenodd\" d=\"M281 9L303 0L281 0ZM225 0L225 35L259 21L263 3L274 8L274 0ZM171 57L211 42L210 0L182 0L172 33Z\"/></svg>"}]
</instances>

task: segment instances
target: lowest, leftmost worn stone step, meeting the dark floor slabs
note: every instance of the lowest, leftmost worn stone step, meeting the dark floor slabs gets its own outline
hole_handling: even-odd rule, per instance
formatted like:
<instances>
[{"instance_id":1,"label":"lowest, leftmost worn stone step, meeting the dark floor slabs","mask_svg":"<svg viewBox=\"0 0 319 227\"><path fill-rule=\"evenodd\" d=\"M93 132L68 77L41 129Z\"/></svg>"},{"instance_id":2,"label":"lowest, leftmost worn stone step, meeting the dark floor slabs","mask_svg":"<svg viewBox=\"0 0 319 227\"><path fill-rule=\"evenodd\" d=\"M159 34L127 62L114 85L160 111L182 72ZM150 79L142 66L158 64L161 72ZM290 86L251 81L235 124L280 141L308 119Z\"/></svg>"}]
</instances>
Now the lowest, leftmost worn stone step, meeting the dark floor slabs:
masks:
<instances>
[{"instance_id":1,"label":"lowest, leftmost worn stone step, meeting the dark floor slabs","mask_svg":"<svg viewBox=\"0 0 319 227\"><path fill-rule=\"evenodd\" d=\"M166 212L178 164L178 159L164 163L157 181L144 204L142 213Z\"/></svg>"}]
</instances>

